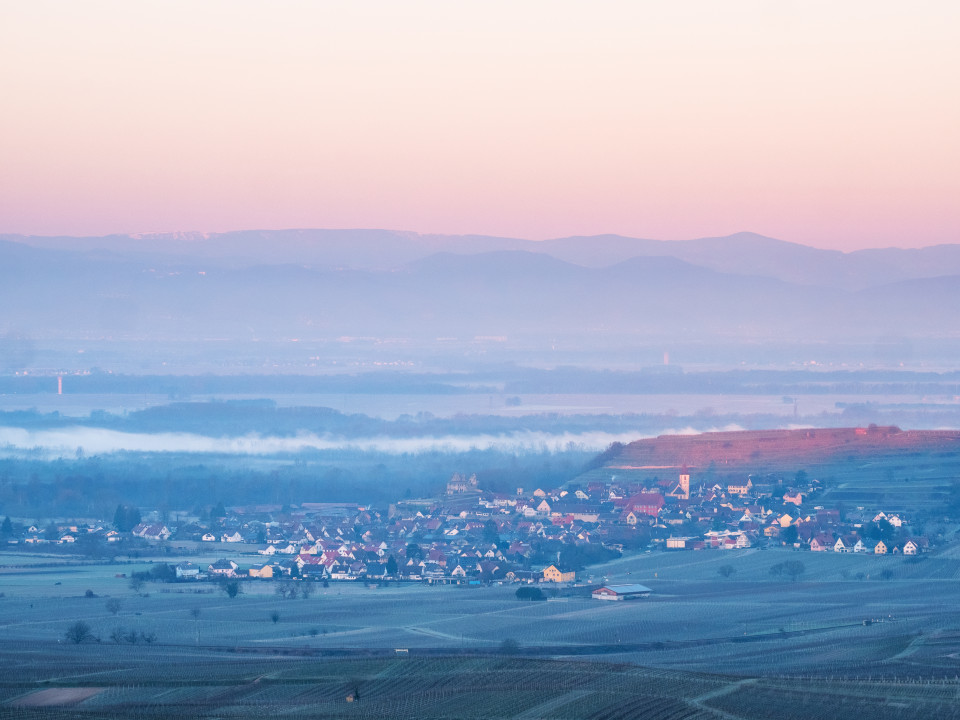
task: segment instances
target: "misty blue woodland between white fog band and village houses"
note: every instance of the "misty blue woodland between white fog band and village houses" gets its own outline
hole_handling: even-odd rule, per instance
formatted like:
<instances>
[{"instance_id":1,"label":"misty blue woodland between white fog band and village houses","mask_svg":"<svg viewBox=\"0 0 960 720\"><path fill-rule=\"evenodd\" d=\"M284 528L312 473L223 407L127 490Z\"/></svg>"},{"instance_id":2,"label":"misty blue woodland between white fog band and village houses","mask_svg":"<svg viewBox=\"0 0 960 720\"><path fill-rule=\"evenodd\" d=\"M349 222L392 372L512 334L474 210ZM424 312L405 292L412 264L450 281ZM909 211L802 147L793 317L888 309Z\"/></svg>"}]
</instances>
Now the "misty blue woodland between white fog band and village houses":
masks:
<instances>
[{"instance_id":1,"label":"misty blue woodland between white fog band and village houses","mask_svg":"<svg viewBox=\"0 0 960 720\"><path fill-rule=\"evenodd\" d=\"M469 470L484 488L555 485L578 475L592 451L514 454L496 450L396 455L342 450L306 459L117 453L82 460L0 459L0 509L18 517L113 518L124 528L134 506L209 509L218 503L386 504L441 492L454 472ZM118 526L119 527L119 526Z\"/></svg>"}]
</instances>

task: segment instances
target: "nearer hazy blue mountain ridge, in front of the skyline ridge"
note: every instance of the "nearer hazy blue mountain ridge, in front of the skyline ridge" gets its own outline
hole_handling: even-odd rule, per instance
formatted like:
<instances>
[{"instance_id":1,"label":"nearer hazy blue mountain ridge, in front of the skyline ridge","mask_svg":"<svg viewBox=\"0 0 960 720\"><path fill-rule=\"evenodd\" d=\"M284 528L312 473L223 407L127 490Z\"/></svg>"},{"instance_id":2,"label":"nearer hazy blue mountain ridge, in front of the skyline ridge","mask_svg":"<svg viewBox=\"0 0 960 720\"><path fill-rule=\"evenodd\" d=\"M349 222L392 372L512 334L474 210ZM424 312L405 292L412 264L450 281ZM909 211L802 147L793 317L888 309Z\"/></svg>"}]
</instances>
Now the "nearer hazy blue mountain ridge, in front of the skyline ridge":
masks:
<instances>
[{"instance_id":1,"label":"nearer hazy blue mountain ridge, in front of the skyline ridge","mask_svg":"<svg viewBox=\"0 0 960 720\"><path fill-rule=\"evenodd\" d=\"M377 247L389 239L379 231L369 238ZM401 250L409 247L403 242ZM960 278L950 276L853 292L719 272L672 256L595 268L502 249L431 253L376 270L291 262L286 252L257 264L189 260L179 248L154 256L142 246L125 254L0 242L7 322L41 336L195 339L616 334L820 341L960 330L952 312L960 306Z\"/></svg>"}]
</instances>

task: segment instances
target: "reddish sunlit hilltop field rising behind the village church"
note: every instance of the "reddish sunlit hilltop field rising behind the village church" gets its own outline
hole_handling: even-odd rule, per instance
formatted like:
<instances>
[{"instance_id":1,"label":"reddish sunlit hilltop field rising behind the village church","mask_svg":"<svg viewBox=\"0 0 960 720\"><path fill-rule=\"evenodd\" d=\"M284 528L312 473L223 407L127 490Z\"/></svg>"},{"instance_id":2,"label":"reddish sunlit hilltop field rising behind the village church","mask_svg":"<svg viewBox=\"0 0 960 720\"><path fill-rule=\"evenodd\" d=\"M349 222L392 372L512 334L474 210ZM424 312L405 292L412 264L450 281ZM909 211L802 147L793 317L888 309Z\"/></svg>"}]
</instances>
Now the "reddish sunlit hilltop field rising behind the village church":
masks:
<instances>
[{"instance_id":1,"label":"reddish sunlit hilltop field rising behind the village church","mask_svg":"<svg viewBox=\"0 0 960 720\"><path fill-rule=\"evenodd\" d=\"M897 427L747 430L700 435L661 435L627 445L607 467L756 469L856 459L903 452L960 451L960 431Z\"/></svg>"}]
</instances>

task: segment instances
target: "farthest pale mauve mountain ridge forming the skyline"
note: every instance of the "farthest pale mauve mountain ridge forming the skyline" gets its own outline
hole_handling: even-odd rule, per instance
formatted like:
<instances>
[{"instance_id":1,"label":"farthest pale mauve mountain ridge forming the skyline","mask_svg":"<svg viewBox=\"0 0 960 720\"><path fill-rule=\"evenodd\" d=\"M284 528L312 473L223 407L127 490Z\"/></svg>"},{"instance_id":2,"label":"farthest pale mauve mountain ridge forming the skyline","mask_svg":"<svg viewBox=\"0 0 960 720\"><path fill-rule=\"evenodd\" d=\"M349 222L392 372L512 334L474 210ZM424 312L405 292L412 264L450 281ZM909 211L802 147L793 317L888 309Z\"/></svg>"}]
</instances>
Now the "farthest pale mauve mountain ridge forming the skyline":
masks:
<instances>
[{"instance_id":1,"label":"farthest pale mauve mountain ridge forming the skyline","mask_svg":"<svg viewBox=\"0 0 960 720\"><path fill-rule=\"evenodd\" d=\"M481 235L322 229L104 237L0 235L0 241L3 240L38 249L101 250L162 264L203 260L224 267L295 263L316 268L378 271L396 270L438 252L475 255L525 251L591 268L608 267L634 257L674 257L718 272L760 275L795 284L829 285L847 290L937 275L960 275L960 245L842 253L746 232L683 241L619 235L530 241Z\"/></svg>"}]
</instances>

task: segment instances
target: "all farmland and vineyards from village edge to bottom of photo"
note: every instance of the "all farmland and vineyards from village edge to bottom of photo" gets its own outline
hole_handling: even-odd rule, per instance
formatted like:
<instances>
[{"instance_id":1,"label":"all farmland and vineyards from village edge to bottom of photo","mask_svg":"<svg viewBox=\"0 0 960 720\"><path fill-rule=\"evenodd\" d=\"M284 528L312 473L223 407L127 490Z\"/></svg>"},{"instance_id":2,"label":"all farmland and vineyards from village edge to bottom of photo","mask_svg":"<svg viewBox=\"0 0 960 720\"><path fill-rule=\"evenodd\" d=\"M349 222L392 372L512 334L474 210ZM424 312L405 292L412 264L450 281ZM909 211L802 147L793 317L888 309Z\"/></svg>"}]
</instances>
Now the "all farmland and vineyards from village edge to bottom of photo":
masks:
<instances>
[{"instance_id":1,"label":"all farmland and vineyards from village edge to bottom of photo","mask_svg":"<svg viewBox=\"0 0 960 720\"><path fill-rule=\"evenodd\" d=\"M796 581L770 574L795 558ZM721 564L735 573L719 577ZM0 662L15 669L0 717L960 716L949 551L649 553L595 566L597 582L654 588L626 603L522 602L513 586L135 593L118 569L2 570ZM100 642L66 643L75 620ZM111 641L119 626L156 639Z\"/></svg>"}]
</instances>

